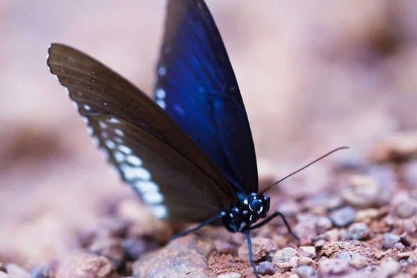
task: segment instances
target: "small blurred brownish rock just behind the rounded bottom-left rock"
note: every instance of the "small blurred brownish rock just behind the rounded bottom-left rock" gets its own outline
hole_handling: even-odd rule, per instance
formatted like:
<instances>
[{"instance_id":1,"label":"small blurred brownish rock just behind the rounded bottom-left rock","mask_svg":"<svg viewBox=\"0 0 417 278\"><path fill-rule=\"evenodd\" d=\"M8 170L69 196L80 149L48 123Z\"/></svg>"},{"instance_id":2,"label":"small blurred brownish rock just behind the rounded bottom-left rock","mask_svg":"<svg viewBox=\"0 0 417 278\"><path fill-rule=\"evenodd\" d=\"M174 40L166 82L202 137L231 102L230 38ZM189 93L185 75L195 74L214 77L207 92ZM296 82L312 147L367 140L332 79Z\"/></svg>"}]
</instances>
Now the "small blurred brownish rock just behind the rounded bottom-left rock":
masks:
<instances>
[{"instance_id":1,"label":"small blurred brownish rock just behind the rounded bottom-left rock","mask_svg":"<svg viewBox=\"0 0 417 278\"><path fill-rule=\"evenodd\" d=\"M88 251L99 256L105 256L116 269L120 268L126 259L123 243L119 238L97 238L88 247Z\"/></svg>"}]
</instances>

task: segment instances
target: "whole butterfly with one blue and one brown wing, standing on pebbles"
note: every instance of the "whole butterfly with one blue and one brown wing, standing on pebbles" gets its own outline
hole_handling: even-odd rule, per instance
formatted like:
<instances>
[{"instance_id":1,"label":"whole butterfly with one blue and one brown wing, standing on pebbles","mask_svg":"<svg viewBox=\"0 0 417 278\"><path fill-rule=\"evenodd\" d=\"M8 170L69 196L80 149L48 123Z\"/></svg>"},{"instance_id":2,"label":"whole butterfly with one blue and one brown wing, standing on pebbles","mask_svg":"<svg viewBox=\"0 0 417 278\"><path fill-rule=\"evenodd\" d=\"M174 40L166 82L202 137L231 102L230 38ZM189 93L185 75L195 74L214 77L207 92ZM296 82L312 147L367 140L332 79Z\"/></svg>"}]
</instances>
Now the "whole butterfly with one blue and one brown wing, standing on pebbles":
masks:
<instances>
[{"instance_id":1,"label":"whole butterfly with one blue and one brown wing, standing on pebbles","mask_svg":"<svg viewBox=\"0 0 417 278\"><path fill-rule=\"evenodd\" d=\"M67 89L95 145L155 217L201 223L177 236L206 224L244 233L256 277L252 229L281 216L297 238L279 211L266 217L269 188L258 193L247 113L203 0L167 3L154 100L63 44L51 44L47 65Z\"/></svg>"}]
</instances>

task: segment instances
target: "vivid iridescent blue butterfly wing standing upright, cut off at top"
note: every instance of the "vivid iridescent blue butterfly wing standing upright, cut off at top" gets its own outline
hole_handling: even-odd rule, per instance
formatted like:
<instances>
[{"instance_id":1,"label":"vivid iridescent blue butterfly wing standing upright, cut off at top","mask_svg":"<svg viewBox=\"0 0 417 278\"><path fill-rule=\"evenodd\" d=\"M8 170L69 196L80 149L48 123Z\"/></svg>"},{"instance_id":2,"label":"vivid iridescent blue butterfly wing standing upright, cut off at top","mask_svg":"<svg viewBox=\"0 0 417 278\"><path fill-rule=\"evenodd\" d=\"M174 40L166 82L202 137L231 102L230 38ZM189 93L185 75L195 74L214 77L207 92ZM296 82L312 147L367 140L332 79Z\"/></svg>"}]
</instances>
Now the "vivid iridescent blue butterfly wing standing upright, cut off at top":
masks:
<instances>
[{"instance_id":1,"label":"vivid iridescent blue butterfly wing standing upright, cut off at top","mask_svg":"<svg viewBox=\"0 0 417 278\"><path fill-rule=\"evenodd\" d=\"M257 193L250 124L227 51L202 0L170 0L155 100L234 189Z\"/></svg>"}]
</instances>

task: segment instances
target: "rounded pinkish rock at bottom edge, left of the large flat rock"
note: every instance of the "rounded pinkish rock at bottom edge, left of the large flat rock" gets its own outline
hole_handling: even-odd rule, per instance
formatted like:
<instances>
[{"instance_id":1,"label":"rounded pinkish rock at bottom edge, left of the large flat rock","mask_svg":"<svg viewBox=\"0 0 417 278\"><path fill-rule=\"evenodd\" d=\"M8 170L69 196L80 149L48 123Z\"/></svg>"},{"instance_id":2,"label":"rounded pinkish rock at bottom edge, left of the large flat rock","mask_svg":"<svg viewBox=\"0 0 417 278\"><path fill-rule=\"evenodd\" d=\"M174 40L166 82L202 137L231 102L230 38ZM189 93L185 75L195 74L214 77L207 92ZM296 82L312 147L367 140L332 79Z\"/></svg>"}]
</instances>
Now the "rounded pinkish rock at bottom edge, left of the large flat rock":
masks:
<instances>
[{"instance_id":1,"label":"rounded pinkish rock at bottom edge, left of the large flat rock","mask_svg":"<svg viewBox=\"0 0 417 278\"><path fill-rule=\"evenodd\" d=\"M58 265L59 278L117 278L115 268L105 256L76 254L67 257Z\"/></svg>"}]
</instances>

